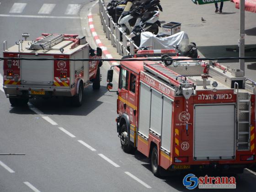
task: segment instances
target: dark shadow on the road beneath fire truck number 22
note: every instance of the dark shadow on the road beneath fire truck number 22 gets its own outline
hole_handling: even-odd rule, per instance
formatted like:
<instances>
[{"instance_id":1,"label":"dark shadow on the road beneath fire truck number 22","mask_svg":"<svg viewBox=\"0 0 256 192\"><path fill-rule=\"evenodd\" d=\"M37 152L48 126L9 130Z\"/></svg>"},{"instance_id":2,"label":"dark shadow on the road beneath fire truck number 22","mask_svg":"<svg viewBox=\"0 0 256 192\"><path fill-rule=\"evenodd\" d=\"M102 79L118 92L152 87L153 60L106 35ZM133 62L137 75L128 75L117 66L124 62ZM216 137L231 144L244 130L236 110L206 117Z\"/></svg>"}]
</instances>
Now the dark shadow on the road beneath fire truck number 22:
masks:
<instances>
[{"instance_id":1,"label":"dark shadow on the road beneath fire truck number 22","mask_svg":"<svg viewBox=\"0 0 256 192\"><path fill-rule=\"evenodd\" d=\"M46 115L86 116L103 103L103 101L98 101L102 96L104 96L104 101L109 100L109 102L111 102L112 97L115 96L115 93L108 92L106 86L101 86L100 90L94 91L90 85L84 90L84 101L80 107L72 106L71 99L63 97L53 97L49 99L38 98L36 100L30 99L29 102L31 102L33 106L37 107L43 112L43 114ZM10 110L10 113L34 114L34 112L30 110L28 106L13 107Z\"/></svg>"}]
</instances>

